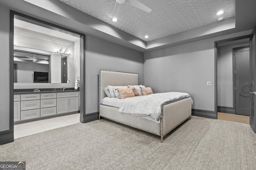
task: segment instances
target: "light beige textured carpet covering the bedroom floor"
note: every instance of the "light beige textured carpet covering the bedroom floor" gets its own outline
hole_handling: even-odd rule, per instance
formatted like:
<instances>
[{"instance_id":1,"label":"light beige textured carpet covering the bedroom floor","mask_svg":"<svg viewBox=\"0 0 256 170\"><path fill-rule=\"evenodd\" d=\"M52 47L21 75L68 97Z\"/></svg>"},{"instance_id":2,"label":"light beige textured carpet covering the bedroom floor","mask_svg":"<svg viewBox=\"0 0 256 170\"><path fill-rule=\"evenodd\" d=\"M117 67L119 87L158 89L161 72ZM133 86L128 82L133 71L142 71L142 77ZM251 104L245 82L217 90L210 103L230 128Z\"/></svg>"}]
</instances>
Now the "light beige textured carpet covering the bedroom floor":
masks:
<instances>
[{"instance_id":1,"label":"light beige textured carpet covering the bedroom floor","mask_svg":"<svg viewBox=\"0 0 256 170\"><path fill-rule=\"evenodd\" d=\"M256 134L250 125L192 116L160 137L102 119L78 123L1 145L1 161L39 169L256 168Z\"/></svg>"}]
</instances>

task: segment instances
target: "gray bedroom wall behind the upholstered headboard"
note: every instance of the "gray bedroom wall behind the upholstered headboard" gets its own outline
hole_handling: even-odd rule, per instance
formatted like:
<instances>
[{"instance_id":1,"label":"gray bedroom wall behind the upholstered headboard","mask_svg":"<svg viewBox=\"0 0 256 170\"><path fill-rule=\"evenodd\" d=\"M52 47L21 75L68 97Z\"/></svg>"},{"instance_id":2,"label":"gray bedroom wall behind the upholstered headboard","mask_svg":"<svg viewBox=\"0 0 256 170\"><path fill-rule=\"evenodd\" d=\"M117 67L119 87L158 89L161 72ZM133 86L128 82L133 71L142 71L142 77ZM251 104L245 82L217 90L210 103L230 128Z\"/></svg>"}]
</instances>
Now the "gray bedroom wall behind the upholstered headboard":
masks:
<instances>
[{"instance_id":1,"label":"gray bedroom wall behind the upholstered headboard","mask_svg":"<svg viewBox=\"0 0 256 170\"><path fill-rule=\"evenodd\" d=\"M86 114L99 111L99 69L139 74L143 84L143 53L86 35Z\"/></svg>"}]
</instances>

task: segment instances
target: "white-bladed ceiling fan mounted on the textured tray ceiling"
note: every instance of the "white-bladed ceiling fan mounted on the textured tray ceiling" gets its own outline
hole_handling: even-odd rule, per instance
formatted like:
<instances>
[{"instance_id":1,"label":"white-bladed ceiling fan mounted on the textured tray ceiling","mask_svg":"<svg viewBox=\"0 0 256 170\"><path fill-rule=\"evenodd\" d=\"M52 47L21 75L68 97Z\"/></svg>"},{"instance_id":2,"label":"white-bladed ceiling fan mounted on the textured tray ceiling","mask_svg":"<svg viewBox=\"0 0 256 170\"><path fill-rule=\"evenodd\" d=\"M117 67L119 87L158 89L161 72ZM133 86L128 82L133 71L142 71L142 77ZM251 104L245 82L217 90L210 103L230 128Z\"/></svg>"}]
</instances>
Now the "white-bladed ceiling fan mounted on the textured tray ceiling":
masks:
<instances>
[{"instance_id":1,"label":"white-bladed ceiling fan mounted on the textured tray ceiling","mask_svg":"<svg viewBox=\"0 0 256 170\"><path fill-rule=\"evenodd\" d=\"M132 6L136 7L136 8L139 8L140 10L143 10L143 11L148 12L148 13L150 13L152 11L150 8L148 8L146 5L142 4L138 0L116 0L116 5L115 5L115 8L114 8L114 12L113 12L112 18L116 18L117 17L117 14L118 14L118 12L120 10L120 7L124 3L132 5Z\"/></svg>"}]
</instances>

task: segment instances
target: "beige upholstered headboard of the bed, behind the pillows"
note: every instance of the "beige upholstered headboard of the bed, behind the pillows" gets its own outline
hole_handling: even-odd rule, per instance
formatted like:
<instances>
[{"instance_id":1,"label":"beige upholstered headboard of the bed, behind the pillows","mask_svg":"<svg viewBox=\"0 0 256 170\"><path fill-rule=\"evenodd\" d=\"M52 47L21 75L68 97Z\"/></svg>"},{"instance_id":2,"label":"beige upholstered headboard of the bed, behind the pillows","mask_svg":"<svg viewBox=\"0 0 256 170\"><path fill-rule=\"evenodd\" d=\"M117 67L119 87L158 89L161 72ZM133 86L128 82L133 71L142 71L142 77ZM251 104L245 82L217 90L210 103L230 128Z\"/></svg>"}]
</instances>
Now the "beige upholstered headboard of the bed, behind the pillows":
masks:
<instances>
[{"instance_id":1,"label":"beige upholstered headboard of the bed, behind the pillows","mask_svg":"<svg viewBox=\"0 0 256 170\"><path fill-rule=\"evenodd\" d=\"M107 97L103 89L109 86L138 85L138 74L100 70L100 101Z\"/></svg>"}]
</instances>

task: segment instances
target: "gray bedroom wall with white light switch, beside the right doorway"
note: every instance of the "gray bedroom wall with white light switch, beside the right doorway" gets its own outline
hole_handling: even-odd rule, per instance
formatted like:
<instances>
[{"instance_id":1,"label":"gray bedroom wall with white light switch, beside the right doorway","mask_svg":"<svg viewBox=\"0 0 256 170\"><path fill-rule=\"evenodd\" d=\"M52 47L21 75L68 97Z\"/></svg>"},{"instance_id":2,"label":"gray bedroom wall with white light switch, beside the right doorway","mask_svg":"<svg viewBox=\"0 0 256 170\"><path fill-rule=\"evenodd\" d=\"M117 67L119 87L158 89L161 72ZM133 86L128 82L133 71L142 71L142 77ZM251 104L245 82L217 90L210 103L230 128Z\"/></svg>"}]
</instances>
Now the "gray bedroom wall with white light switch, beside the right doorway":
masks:
<instances>
[{"instance_id":1,"label":"gray bedroom wall with white light switch, beside the right doorway","mask_svg":"<svg viewBox=\"0 0 256 170\"><path fill-rule=\"evenodd\" d=\"M214 111L214 40L144 53L144 84L154 93L187 92L193 109Z\"/></svg>"}]
</instances>

